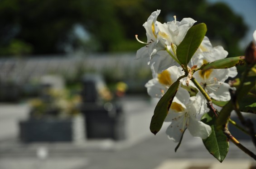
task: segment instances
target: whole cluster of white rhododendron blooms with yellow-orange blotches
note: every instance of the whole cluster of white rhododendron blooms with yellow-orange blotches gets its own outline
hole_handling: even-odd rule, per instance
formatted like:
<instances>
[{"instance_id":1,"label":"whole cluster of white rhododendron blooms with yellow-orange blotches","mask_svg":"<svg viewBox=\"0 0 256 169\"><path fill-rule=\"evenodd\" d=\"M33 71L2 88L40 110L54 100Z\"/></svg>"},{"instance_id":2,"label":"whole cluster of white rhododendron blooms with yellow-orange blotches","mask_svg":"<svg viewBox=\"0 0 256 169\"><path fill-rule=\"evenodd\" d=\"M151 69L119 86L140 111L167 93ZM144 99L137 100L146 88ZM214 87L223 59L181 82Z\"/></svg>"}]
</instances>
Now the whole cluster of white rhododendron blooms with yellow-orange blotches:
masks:
<instances>
[{"instance_id":1,"label":"whole cluster of white rhododendron blooms with yellow-orange blotches","mask_svg":"<svg viewBox=\"0 0 256 169\"><path fill-rule=\"evenodd\" d=\"M139 42L146 45L137 51L136 58L149 57L153 79L147 82L145 87L151 97L161 98L168 88L184 75L176 56L176 49L196 21L192 18L184 18L179 22L174 16L174 21L160 23L157 21L159 14L160 10L153 12L143 24L146 29L147 42L140 41L136 36ZM208 37L204 37L188 63L188 68L195 65L199 68L205 63L224 59L227 54L222 46L213 47ZM193 77L211 98L227 101L230 100L230 86L225 81L236 75L237 69L232 67L230 69L198 70ZM185 81L185 78L181 79L180 85L186 85ZM195 87L191 82L189 86ZM201 92L198 92L196 96L190 96L189 92L180 86L165 118L166 122L171 122L166 130L168 137L174 142L179 142L185 129L188 129L194 137L208 137L211 127L200 121L201 116L209 111L206 102Z\"/></svg>"}]
</instances>

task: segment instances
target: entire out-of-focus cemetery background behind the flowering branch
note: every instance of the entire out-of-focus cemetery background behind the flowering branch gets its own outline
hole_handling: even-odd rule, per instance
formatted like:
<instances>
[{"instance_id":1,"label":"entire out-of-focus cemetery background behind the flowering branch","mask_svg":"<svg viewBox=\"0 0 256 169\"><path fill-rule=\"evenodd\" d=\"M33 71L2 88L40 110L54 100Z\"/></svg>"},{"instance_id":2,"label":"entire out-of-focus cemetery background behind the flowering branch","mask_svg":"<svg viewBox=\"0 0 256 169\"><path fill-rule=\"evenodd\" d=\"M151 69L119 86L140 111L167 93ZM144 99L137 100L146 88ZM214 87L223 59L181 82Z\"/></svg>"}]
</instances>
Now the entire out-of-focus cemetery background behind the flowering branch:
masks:
<instances>
[{"instance_id":1,"label":"entire out-of-focus cemetery background behind the flowering branch","mask_svg":"<svg viewBox=\"0 0 256 169\"><path fill-rule=\"evenodd\" d=\"M164 128L150 133L157 100L135 34L146 41L156 9L162 23L206 23L228 57L244 55L256 29L255 0L0 0L0 169L220 169L199 139L185 135L174 153ZM234 159L253 165L231 145Z\"/></svg>"}]
</instances>

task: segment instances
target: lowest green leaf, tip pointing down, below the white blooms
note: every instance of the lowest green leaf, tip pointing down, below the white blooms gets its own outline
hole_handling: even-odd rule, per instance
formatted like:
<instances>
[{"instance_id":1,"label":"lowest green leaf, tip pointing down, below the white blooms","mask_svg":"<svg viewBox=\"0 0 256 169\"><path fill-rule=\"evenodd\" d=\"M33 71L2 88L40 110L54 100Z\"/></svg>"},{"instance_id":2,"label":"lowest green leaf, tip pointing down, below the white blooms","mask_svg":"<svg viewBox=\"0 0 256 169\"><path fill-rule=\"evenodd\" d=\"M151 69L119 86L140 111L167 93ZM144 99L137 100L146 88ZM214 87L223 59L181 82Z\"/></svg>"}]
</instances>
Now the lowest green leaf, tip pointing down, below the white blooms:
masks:
<instances>
[{"instance_id":1,"label":"lowest green leaf, tip pointing down, below the white blooms","mask_svg":"<svg viewBox=\"0 0 256 169\"><path fill-rule=\"evenodd\" d=\"M210 136L203 139L204 146L211 155L222 162L225 159L229 149L227 136L222 132L222 130L217 130L215 124L216 117L212 117L210 112L204 114L201 121L208 124L212 128Z\"/></svg>"}]
</instances>

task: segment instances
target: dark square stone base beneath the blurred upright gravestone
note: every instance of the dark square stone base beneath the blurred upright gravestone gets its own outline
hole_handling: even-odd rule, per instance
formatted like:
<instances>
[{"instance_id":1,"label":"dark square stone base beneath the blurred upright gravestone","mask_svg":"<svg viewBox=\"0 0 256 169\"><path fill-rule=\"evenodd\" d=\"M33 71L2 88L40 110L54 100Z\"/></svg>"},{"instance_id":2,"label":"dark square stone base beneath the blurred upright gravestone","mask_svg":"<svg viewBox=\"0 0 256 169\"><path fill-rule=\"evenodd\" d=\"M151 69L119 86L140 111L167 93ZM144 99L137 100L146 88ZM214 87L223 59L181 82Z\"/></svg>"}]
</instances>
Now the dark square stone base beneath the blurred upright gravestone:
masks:
<instances>
[{"instance_id":1,"label":"dark square stone base beneath the blurred upright gravestone","mask_svg":"<svg viewBox=\"0 0 256 169\"><path fill-rule=\"evenodd\" d=\"M82 113L85 116L87 138L126 139L125 115L121 107L107 103L97 105L84 103Z\"/></svg>"}]
</instances>

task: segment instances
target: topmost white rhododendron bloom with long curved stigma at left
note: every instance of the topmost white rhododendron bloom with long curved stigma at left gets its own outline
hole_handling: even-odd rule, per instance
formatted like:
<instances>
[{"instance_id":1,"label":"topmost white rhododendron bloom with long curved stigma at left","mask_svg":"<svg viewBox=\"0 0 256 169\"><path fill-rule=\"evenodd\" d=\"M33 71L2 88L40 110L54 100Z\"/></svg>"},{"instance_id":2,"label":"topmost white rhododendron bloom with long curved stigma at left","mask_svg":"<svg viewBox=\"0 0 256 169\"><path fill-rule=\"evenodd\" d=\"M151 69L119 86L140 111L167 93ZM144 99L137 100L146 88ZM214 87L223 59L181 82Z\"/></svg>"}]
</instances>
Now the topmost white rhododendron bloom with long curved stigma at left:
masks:
<instances>
[{"instance_id":1,"label":"topmost white rhododendron bloom with long curved stigma at left","mask_svg":"<svg viewBox=\"0 0 256 169\"><path fill-rule=\"evenodd\" d=\"M173 65L179 65L176 57L176 46L178 46L181 41L183 41L188 29L193 26L196 22L192 18L184 18L182 21L176 21L174 16L174 21L168 23L160 23L156 19L160 13L160 10L153 12L148 18L147 22L143 24L146 29L147 42L142 42L146 46L137 50L136 58L149 57L149 64L155 63L155 72L160 73L164 69L169 68ZM172 58L173 55L174 58ZM164 52L161 52L164 51ZM159 54L159 52L161 52ZM157 57L158 59L153 59ZM162 65L164 64L164 65Z\"/></svg>"}]
</instances>

